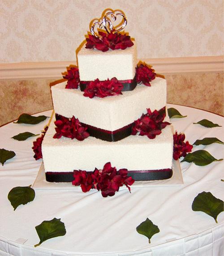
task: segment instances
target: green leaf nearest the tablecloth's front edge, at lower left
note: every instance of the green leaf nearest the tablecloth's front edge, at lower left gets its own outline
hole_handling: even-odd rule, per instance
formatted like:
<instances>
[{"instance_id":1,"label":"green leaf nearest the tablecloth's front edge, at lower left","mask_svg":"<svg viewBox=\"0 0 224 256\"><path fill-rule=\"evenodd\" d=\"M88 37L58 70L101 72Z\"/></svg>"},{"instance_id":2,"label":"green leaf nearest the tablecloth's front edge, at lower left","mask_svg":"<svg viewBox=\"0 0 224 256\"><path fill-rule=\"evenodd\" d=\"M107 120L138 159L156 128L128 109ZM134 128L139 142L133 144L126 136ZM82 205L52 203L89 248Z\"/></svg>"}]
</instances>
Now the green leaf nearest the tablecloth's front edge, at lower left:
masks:
<instances>
[{"instance_id":1,"label":"green leaf nearest the tablecloth's front edge, at lower left","mask_svg":"<svg viewBox=\"0 0 224 256\"><path fill-rule=\"evenodd\" d=\"M40 225L35 226L35 229L37 230L40 242L35 244L34 247L39 246L47 239L66 234L65 223L56 218L52 219L51 221L43 221Z\"/></svg>"}]
</instances>

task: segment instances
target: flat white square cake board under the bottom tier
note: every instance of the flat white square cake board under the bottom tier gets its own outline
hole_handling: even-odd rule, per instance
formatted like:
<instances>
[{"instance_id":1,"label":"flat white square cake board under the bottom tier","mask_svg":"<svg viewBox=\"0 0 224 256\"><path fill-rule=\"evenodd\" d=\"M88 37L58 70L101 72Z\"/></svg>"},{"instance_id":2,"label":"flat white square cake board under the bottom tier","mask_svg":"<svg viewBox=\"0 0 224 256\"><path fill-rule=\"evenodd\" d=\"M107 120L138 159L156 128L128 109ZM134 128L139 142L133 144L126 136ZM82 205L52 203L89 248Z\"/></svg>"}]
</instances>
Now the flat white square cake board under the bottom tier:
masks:
<instances>
[{"instance_id":1,"label":"flat white square cake board under the bottom tier","mask_svg":"<svg viewBox=\"0 0 224 256\"><path fill-rule=\"evenodd\" d=\"M184 185L181 166L179 160L174 160L172 162L172 177L166 180L158 180L158 181L135 181L131 188L146 188L153 186L176 186L176 185ZM33 189L38 190L74 190L81 189L80 186L74 186L71 182L48 182L45 179L44 165L43 162L39 168L39 172L37 177L32 185ZM120 188L125 189L123 186Z\"/></svg>"}]
</instances>

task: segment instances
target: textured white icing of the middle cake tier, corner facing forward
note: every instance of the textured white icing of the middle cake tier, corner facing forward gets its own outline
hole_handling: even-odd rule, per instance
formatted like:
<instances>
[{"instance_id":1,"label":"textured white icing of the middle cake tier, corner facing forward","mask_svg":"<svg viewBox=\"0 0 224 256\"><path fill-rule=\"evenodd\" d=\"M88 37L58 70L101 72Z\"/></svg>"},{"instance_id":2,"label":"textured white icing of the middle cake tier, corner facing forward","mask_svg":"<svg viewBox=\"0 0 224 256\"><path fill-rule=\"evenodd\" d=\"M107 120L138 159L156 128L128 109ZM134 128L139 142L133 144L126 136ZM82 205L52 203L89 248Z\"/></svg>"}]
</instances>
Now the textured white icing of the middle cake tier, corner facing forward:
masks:
<instances>
[{"instance_id":1,"label":"textured white icing of the middle cake tier, corner facing forward","mask_svg":"<svg viewBox=\"0 0 224 256\"><path fill-rule=\"evenodd\" d=\"M151 87L138 84L133 91L105 98L84 97L79 89L65 89L66 82L52 86L52 100L57 114L73 115L84 124L114 131L146 113L166 105L166 80L157 77Z\"/></svg>"}]
</instances>

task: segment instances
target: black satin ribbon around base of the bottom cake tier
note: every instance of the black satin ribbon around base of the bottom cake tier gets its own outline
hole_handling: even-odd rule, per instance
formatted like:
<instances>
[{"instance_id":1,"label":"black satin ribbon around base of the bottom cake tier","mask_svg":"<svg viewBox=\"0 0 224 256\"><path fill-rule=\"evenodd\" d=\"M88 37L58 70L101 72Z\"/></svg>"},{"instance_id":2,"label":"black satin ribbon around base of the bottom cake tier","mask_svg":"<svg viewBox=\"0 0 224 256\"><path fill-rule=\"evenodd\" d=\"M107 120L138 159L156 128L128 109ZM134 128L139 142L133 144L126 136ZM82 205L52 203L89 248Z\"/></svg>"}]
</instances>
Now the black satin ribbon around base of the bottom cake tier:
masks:
<instances>
[{"instance_id":1,"label":"black satin ribbon around base of the bottom cake tier","mask_svg":"<svg viewBox=\"0 0 224 256\"><path fill-rule=\"evenodd\" d=\"M73 172L46 172L48 182L72 182ZM129 171L128 176L135 181L165 180L172 177L172 169Z\"/></svg>"}]
</instances>

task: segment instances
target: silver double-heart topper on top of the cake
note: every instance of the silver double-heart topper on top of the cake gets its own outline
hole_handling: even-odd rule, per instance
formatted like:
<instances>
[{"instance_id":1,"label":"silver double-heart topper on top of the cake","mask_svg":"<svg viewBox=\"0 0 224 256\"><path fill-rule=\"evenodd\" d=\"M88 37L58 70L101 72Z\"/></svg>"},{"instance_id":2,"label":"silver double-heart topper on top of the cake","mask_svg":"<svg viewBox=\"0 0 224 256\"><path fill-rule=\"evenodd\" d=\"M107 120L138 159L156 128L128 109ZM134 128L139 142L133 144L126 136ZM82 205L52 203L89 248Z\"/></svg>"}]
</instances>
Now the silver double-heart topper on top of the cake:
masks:
<instances>
[{"instance_id":1,"label":"silver double-heart topper on top of the cake","mask_svg":"<svg viewBox=\"0 0 224 256\"><path fill-rule=\"evenodd\" d=\"M121 16L122 17L122 24L121 27L118 28L117 30L114 31L114 33L117 33L119 31L121 31L122 29L125 28L125 26L127 26L127 18L125 17L125 15L123 13L114 13L114 12L108 12L106 13L102 19L98 20L98 22L93 23L93 25L90 28L90 32L92 35L98 37L95 33L95 26L99 25L100 29L105 29L105 31L109 34L112 30L114 30L114 26L112 24L111 19L108 16L112 17L112 21L115 22L117 16ZM121 22L120 22L121 23ZM120 23L118 24L118 26L120 25Z\"/></svg>"}]
</instances>

